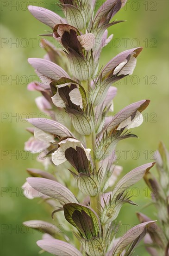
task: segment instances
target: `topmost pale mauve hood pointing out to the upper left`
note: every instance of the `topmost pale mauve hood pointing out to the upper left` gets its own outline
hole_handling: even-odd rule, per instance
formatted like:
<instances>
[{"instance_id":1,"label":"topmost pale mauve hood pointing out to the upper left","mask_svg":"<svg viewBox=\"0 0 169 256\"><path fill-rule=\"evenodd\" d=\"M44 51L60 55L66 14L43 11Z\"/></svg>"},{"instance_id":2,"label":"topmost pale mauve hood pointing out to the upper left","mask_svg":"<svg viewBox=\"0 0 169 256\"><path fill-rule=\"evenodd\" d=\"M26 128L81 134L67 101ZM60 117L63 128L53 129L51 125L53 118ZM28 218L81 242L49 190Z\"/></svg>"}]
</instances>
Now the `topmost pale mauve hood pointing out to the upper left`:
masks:
<instances>
[{"instance_id":1,"label":"topmost pale mauve hood pointing out to the upper left","mask_svg":"<svg viewBox=\"0 0 169 256\"><path fill-rule=\"evenodd\" d=\"M28 6L30 13L44 24L54 28L58 23L66 23L58 14L38 6Z\"/></svg>"}]
</instances>

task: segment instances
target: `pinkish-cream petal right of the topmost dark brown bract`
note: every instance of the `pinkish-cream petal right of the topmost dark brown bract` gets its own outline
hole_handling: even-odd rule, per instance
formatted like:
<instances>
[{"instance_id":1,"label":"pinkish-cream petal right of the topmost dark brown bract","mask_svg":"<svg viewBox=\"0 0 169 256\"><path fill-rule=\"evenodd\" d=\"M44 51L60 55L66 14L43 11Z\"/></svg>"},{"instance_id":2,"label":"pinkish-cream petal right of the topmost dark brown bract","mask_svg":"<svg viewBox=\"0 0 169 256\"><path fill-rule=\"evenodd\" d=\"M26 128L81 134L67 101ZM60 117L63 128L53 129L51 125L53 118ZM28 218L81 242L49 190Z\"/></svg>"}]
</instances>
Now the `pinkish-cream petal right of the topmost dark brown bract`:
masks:
<instances>
[{"instance_id":1,"label":"pinkish-cream petal right of the topmost dark brown bract","mask_svg":"<svg viewBox=\"0 0 169 256\"><path fill-rule=\"evenodd\" d=\"M91 50L95 45L95 36L92 33L79 35L78 40L85 50Z\"/></svg>"}]
</instances>

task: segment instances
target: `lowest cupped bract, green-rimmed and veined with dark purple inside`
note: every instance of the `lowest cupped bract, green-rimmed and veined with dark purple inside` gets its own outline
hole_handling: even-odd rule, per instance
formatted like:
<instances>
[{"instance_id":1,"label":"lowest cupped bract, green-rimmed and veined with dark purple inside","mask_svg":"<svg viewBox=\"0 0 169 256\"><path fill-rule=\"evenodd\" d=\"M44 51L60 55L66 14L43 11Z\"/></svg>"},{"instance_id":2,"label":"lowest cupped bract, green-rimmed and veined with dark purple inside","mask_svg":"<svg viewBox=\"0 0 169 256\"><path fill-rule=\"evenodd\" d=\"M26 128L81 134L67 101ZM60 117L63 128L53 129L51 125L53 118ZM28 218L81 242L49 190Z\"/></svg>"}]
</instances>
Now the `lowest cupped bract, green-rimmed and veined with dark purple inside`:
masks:
<instances>
[{"instance_id":1,"label":"lowest cupped bract, green-rimmed and veined with dark purple inside","mask_svg":"<svg viewBox=\"0 0 169 256\"><path fill-rule=\"evenodd\" d=\"M63 205L64 216L85 239L97 237L100 233L100 220L95 211L77 203Z\"/></svg>"}]
</instances>

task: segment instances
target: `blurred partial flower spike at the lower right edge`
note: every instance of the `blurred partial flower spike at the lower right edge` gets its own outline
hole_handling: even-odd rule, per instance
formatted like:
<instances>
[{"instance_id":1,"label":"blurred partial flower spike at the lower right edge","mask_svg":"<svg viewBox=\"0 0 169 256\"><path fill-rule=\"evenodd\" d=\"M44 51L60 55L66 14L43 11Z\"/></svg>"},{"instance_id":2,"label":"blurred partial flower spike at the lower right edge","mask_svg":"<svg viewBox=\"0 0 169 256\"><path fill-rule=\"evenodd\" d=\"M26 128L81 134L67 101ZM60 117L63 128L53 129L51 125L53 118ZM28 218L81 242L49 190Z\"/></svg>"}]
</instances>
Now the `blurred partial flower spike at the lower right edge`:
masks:
<instances>
[{"instance_id":1,"label":"blurred partial flower spike at the lower right edge","mask_svg":"<svg viewBox=\"0 0 169 256\"><path fill-rule=\"evenodd\" d=\"M144 176L144 181L151 190L152 202L156 207L159 224L148 229L144 237L147 251L152 256L169 256L169 152L160 142L155 154L158 180L150 172ZM140 222L151 221L148 216L137 213Z\"/></svg>"}]
</instances>

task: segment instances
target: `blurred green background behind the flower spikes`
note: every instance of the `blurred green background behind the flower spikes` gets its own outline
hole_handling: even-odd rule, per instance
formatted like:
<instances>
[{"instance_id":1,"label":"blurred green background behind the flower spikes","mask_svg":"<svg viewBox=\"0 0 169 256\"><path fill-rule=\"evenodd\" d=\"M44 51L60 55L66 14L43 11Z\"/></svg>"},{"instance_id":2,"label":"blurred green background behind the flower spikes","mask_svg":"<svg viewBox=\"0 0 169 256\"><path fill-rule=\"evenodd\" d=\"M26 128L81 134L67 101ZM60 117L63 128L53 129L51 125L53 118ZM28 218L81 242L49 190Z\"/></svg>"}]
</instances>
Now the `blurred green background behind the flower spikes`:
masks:
<instances>
[{"instance_id":1,"label":"blurred green background behind the flower spikes","mask_svg":"<svg viewBox=\"0 0 169 256\"><path fill-rule=\"evenodd\" d=\"M27 231L22 227L22 222L31 219L52 221L50 208L45 204L37 204L38 199L28 200L20 190L27 177L26 168L43 169L40 163L32 160L31 154L26 155L22 151L24 142L30 137L25 131L28 125L24 118L32 112L37 115L40 113L34 102L40 94L26 89L31 75L35 74L27 58L44 56L44 50L38 45L38 34L49 29L26 10L31 2L51 10L55 7L53 0L1 0L2 256L38 255L36 241L41 239L42 234L32 234L32 230ZM144 47L134 74L117 85L118 94L114 99L115 112L132 102L151 100L150 106L144 111L144 123L134 130L139 139L121 141L117 148L120 152L118 164L124 167L123 174L151 162L159 141L163 141L168 148L168 5L167 0L128 1L127 6L115 16L116 19L127 22L109 28L109 34L114 34L114 39L101 54L100 66L125 49ZM63 15L61 11L57 13ZM122 150L129 150L127 159ZM153 172L156 173L155 168ZM145 188L144 181L141 181L133 192L133 200L139 204L138 207L125 205L122 208L118 218L124 224L121 233L125 232L125 228L138 224L135 212L150 202L150 193L146 196ZM151 206L142 211L156 219L154 210ZM127 224L129 225L125 226ZM149 255L142 243L135 254Z\"/></svg>"}]
</instances>

